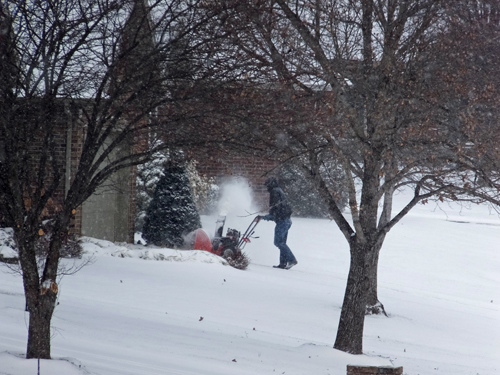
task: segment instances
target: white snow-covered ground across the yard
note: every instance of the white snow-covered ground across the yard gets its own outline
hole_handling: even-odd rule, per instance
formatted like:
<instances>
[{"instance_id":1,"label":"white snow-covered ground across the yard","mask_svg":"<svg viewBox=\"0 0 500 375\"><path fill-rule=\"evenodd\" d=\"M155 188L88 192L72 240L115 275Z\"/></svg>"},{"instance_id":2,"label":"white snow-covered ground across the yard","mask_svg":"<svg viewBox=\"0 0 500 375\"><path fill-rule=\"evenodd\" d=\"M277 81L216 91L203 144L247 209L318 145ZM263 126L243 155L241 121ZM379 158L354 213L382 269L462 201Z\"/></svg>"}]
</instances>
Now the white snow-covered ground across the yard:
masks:
<instances>
[{"instance_id":1,"label":"white snow-covered ground across the yard","mask_svg":"<svg viewBox=\"0 0 500 375\"><path fill-rule=\"evenodd\" d=\"M226 228L246 229L241 214ZM203 226L213 233L215 217ZM389 317L366 318L362 356L333 349L349 265L334 223L293 220L299 264L288 271L271 267L273 228L257 226L245 271L207 252L86 238L92 263L59 282L53 360L40 374L345 375L347 364L500 374L500 219L486 206L420 205L389 233L379 267ZM23 359L24 305L20 276L0 266L2 375L38 373Z\"/></svg>"}]
</instances>

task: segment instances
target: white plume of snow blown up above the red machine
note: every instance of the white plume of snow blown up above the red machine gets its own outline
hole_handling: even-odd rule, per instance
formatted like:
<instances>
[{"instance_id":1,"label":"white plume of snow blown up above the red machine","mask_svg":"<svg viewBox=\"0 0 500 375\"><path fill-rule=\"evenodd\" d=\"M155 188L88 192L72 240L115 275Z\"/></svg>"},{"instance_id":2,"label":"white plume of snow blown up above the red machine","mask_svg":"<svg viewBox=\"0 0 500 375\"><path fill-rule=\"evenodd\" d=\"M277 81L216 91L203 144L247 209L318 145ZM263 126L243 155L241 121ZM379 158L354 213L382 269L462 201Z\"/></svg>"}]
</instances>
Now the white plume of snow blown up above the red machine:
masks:
<instances>
[{"instance_id":1,"label":"white plume of snow blown up above the red machine","mask_svg":"<svg viewBox=\"0 0 500 375\"><path fill-rule=\"evenodd\" d=\"M246 216L256 211L252 189L246 179L234 178L222 184L217 204L217 213L220 216Z\"/></svg>"}]
</instances>

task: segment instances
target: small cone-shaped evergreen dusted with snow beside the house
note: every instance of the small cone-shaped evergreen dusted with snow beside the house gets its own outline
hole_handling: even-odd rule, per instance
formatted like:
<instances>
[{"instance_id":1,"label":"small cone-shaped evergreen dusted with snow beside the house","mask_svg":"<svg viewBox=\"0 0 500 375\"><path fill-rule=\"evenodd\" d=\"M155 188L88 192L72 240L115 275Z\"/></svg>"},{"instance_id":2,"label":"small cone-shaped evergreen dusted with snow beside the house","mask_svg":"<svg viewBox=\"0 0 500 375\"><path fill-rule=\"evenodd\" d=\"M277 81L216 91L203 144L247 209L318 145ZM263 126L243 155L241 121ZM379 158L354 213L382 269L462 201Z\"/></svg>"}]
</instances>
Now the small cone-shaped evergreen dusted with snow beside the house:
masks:
<instances>
[{"instance_id":1,"label":"small cone-shaped evergreen dusted with snow beside the house","mask_svg":"<svg viewBox=\"0 0 500 375\"><path fill-rule=\"evenodd\" d=\"M200 227L186 168L169 163L146 211L143 238L157 246L177 248L184 244L186 234Z\"/></svg>"}]
</instances>

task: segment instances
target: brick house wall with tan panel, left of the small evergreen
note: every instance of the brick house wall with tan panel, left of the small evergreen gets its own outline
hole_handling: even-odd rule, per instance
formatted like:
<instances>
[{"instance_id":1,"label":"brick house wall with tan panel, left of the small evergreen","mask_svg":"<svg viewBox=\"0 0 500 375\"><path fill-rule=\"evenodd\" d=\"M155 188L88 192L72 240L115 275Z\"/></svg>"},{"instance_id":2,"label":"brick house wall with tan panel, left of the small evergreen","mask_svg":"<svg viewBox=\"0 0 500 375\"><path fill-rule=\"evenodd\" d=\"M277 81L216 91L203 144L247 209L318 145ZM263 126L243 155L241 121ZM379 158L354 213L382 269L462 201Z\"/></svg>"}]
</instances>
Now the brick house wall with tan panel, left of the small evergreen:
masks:
<instances>
[{"instance_id":1,"label":"brick house wall with tan panel, left of the small evergreen","mask_svg":"<svg viewBox=\"0 0 500 375\"><path fill-rule=\"evenodd\" d=\"M32 113L25 114L26 121L30 121L30 117L37 112L36 107L41 106L41 102L33 103L32 106L34 107ZM42 212L43 217L50 217L58 211L62 197L69 190L84 141L85 124L81 114L72 108L68 101L58 101L54 106L54 112L56 123L52 134L57 145L54 157L55 163L63 169L60 171L62 183ZM30 152L36 155L42 147L42 137L34 136ZM135 168L119 171L76 210L71 223L72 233L110 241L133 240L134 195ZM29 202L26 204L29 205ZM0 210L0 222L1 216Z\"/></svg>"}]
</instances>

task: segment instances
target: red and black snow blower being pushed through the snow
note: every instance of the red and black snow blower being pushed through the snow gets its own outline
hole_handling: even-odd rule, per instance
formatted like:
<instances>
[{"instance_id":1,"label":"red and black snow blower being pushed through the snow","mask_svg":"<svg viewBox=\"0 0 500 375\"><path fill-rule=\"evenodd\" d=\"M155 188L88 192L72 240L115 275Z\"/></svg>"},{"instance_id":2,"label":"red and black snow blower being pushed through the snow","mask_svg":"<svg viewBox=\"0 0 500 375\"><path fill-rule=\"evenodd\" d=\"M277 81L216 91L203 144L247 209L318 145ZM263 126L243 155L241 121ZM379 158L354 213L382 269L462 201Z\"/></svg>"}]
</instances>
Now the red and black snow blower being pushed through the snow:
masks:
<instances>
[{"instance_id":1,"label":"red and black snow blower being pushed through the snow","mask_svg":"<svg viewBox=\"0 0 500 375\"><path fill-rule=\"evenodd\" d=\"M259 217L257 216L252 220L243 235L236 229L228 228L226 235L223 236L225 222L226 217L219 216L216 222L215 236L212 240L203 229L196 229L192 233L192 248L193 250L209 251L223 257L235 268L246 269L249 260L242 250L250 242L250 238L256 238L253 237L253 234L255 233L255 227L259 223Z\"/></svg>"}]
</instances>

